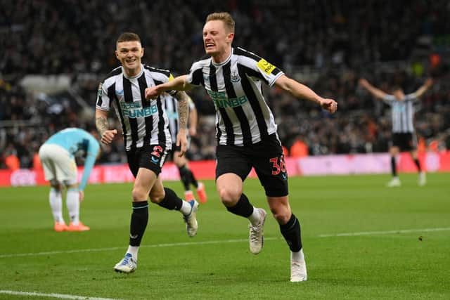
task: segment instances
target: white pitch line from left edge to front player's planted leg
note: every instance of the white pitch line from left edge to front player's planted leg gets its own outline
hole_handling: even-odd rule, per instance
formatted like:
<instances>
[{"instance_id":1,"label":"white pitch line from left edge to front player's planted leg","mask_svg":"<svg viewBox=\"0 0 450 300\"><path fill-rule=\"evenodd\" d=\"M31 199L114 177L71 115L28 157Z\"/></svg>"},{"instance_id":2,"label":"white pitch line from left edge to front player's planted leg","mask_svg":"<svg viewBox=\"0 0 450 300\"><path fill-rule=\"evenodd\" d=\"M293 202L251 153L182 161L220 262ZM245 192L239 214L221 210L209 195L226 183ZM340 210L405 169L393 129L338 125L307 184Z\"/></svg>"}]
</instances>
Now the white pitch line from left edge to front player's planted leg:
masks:
<instances>
[{"instance_id":1,"label":"white pitch line from left edge to front player's planted leg","mask_svg":"<svg viewBox=\"0 0 450 300\"><path fill-rule=\"evenodd\" d=\"M264 237L264 240L278 240L278 237ZM158 248L158 247L179 247L179 246L195 246L198 244L224 244L230 242L248 242L248 239L242 240L210 240L203 242L174 242L170 244L144 244L141 248ZM110 248L96 248L96 249L74 249L65 251L48 251L48 252L34 252L34 253L17 253L17 254L0 254L0 259L8 257L20 257L20 256L41 256L52 254L68 254L68 253L80 253L80 252L102 252L102 251L114 251L125 249L125 247L110 247Z\"/></svg>"}]
</instances>

